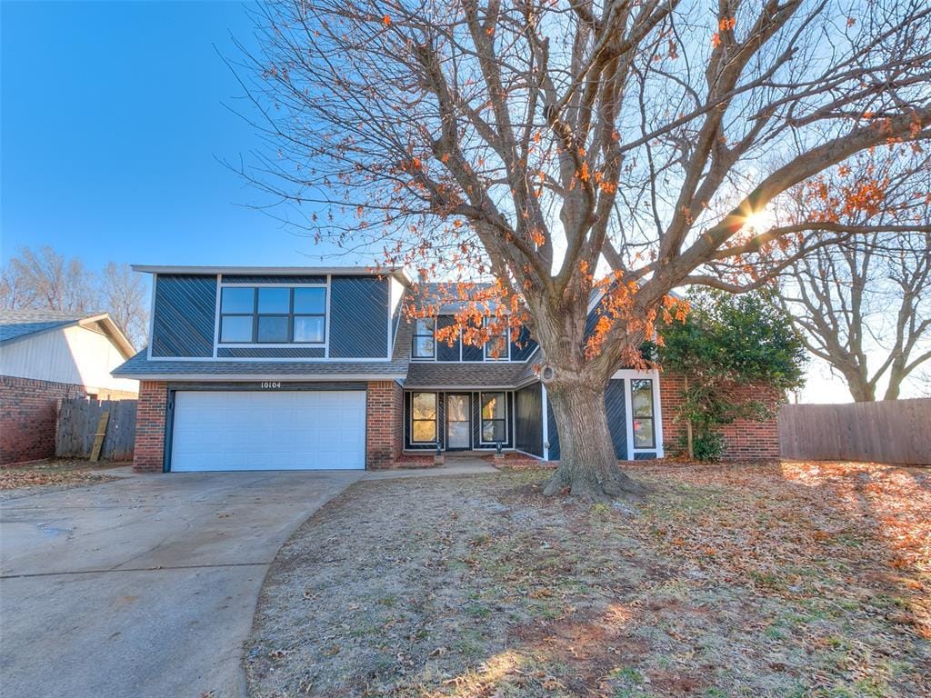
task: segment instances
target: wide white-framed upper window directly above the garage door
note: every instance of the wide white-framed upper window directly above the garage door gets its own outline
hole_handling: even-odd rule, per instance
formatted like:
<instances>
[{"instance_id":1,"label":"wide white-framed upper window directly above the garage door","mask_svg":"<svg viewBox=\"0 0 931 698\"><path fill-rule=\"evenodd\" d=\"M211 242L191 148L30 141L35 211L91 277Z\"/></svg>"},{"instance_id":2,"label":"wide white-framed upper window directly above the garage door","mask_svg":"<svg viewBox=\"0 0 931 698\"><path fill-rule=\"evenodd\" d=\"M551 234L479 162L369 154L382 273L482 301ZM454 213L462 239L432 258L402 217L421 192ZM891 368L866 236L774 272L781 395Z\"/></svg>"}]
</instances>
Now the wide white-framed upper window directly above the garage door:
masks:
<instances>
[{"instance_id":1,"label":"wide white-framed upper window directly above the garage door","mask_svg":"<svg viewBox=\"0 0 931 698\"><path fill-rule=\"evenodd\" d=\"M323 344L326 287L224 287L220 297L223 344Z\"/></svg>"}]
</instances>

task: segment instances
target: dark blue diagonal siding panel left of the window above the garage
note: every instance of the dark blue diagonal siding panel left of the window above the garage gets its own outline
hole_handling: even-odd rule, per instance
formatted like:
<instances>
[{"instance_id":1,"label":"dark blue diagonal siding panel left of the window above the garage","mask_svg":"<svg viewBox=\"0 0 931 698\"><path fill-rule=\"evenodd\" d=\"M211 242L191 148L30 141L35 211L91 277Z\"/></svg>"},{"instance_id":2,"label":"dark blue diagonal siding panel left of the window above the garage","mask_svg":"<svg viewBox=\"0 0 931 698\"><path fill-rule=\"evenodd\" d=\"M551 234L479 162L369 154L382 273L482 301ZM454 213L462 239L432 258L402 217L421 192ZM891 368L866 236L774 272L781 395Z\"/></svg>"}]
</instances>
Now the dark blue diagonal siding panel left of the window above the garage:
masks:
<instances>
[{"instance_id":1,"label":"dark blue diagonal siding panel left of the window above the garage","mask_svg":"<svg viewBox=\"0 0 931 698\"><path fill-rule=\"evenodd\" d=\"M152 356L213 356L217 277L158 275Z\"/></svg>"}]
</instances>

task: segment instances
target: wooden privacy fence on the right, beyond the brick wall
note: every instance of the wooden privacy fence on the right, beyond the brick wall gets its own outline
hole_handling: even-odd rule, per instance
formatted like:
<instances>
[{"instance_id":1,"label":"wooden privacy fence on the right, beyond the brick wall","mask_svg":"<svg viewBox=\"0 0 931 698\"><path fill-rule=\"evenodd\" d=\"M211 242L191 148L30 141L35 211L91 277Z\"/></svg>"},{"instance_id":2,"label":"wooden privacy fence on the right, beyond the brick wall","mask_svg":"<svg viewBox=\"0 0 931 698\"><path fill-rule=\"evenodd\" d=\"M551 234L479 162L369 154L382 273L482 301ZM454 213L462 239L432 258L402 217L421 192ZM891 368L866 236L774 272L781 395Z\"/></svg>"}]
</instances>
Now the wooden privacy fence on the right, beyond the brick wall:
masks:
<instances>
[{"instance_id":1,"label":"wooden privacy fence on the right, beyond the brick wall","mask_svg":"<svg viewBox=\"0 0 931 698\"><path fill-rule=\"evenodd\" d=\"M931 398L784 405L783 458L931 465Z\"/></svg>"}]
</instances>

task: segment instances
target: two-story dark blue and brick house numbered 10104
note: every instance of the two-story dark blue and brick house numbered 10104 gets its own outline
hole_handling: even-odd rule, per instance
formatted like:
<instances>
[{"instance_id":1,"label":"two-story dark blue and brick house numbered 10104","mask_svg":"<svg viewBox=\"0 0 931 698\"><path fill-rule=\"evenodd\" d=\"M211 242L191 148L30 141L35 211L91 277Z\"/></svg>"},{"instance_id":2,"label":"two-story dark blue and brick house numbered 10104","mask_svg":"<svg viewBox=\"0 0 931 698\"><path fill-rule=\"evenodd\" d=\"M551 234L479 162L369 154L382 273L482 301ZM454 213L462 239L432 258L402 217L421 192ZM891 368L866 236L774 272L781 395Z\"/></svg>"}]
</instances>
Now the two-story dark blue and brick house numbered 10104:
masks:
<instances>
[{"instance_id":1,"label":"two-story dark blue and brick house numbered 10104","mask_svg":"<svg viewBox=\"0 0 931 698\"><path fill-rule=\"evenodd\" d=\"M155 276L150 342L114 374L141 382L138 470L386 468L403 452L499 444L560 457L534 342L437 342L454 308L409 320L401 270L134 269ZM655 370L614 374L605 403L619 459L664 456L679 430L667 383L678 389ZM770 426L743 439L752 455L777 455Z\"/></svg>"}]
</instances>

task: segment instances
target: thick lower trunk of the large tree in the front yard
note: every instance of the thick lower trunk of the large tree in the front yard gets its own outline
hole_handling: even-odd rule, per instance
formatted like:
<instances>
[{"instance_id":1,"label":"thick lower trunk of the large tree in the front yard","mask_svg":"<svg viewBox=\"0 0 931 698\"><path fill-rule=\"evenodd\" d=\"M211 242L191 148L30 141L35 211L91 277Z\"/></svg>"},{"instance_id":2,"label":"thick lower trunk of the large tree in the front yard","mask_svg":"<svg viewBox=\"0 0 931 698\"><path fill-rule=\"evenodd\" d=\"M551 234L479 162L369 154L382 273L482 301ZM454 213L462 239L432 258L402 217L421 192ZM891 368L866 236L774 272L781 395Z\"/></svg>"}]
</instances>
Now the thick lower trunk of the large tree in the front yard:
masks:
<instances>
[{"instance_id":1,"label":"thick lower trunk of the large tree in the front yard","mask_svg":"<svg viewBox=\"0 0 931 698\"><path fill-rule=\"evenodd\" d=\"M641 495L641 485L617 465L604 409L604 386L597 381L554 382L546 385L546 396L559 429L560 465L544 493L568 489L574 497L593 502Z\"/></svg>"}]
</instances>

